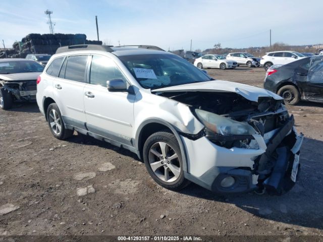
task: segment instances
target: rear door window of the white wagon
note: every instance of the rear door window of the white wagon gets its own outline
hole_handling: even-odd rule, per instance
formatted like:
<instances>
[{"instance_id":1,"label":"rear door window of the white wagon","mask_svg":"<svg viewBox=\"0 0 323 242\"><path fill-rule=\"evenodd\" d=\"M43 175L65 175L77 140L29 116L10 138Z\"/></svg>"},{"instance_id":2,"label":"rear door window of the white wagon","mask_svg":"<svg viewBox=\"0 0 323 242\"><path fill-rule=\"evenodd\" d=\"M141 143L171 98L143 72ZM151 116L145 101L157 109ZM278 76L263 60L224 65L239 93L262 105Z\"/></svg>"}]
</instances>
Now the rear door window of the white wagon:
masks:
<instances>
[{"instance_id":1,"label":"rear door window of the white wagon","mask_svg":"<svg viewBox=\"0 0 323 242\"><path fill-rule=\"evenodd\" d=\"M65 79L85 82L87 55L69 56L65 69Z\"/></svg>"}]
</instances>

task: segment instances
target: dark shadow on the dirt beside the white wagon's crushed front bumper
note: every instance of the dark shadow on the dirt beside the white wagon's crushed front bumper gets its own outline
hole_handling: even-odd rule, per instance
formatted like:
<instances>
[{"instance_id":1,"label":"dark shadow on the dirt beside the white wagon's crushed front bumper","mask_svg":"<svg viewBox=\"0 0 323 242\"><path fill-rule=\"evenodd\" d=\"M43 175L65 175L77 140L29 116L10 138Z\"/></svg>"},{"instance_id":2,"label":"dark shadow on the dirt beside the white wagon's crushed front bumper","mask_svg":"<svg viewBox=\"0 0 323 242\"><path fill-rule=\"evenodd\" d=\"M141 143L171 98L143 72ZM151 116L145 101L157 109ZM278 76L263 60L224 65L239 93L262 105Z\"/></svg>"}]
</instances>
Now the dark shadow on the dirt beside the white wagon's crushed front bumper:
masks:
<instances>
[{"instance_id":1,"label":"dark shadow on the dirt beside the white wagon's crushed front bumper","mask_svg":"<svg viewBox=\"0 0 323 242\"><path fill-rule=\"evenodd\" d=\"M315 149L313 149L315 147ZM323 142L304 139L300 153L301 169L296 185L282 196L255 193L219 196L191 184L182 194L233 204L268 220L323 229Z\"/></svg>"}]
</instances>

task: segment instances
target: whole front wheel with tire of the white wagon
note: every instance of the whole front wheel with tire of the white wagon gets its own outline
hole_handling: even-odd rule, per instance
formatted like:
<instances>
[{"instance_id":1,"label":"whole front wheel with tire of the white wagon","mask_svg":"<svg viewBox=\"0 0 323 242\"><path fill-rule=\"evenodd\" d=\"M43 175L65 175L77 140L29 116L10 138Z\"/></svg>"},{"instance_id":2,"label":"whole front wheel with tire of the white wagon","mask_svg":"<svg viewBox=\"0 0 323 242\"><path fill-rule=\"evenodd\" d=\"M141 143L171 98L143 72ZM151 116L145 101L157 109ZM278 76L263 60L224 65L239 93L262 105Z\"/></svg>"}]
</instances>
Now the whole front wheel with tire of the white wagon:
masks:
<instances>
[{"instance_id":1,"label":"whole front wheel with tire of the white wagon","mask_svg":"<svg viewBox=\"0 0 323 242\"><path fill-rule=\"evenodd\" d=\"M181 190L190 183L184 177L177 139L168 131L157 132L148 137L143 147L143 160L149 175L161 187Z\"/></svg>"}]
</instances>

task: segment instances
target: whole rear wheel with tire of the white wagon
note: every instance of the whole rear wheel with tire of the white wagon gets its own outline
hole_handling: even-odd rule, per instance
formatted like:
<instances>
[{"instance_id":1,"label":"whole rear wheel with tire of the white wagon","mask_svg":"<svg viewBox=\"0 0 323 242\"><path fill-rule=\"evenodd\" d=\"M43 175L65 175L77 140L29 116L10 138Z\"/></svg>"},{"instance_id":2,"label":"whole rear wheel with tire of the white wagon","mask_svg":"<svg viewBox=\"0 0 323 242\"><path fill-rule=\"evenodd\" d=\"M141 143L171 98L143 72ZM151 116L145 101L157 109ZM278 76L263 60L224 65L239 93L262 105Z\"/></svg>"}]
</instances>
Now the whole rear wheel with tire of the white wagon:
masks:
<instances>
[{"instance_id":1,"label":"whole rear wheel with tire of the white wagon","mask_svg":"<svg viewBox=\"0 0 323 242\"><path fill-rule=\"evenodd\" d=\"M50 132L55 138L65 140L73 135L73 130L65 129L61 111L56 103L49 104L46 115Z\"/></svg>"}]
</instances>

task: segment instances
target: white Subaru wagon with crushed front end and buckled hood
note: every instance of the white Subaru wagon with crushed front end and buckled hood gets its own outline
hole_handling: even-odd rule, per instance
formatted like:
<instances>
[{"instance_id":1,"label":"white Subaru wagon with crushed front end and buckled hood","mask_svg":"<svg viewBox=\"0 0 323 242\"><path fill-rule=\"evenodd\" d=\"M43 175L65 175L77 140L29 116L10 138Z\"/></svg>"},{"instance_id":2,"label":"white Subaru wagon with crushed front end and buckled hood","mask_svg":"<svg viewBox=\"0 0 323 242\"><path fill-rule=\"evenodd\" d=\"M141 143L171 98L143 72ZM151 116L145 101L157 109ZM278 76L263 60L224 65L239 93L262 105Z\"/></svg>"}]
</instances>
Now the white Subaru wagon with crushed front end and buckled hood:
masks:
<instances>
[{"instance_id":1,"label":"white Subaru wagon with crushed front end and buckled hood","mask_svg":"<svg viewBox=\"0 0 323 242\"><path fill-rule=\"evenodd\" d=\"M219 81L155 46L61 47L37 80L50 131L129 149L159 185L283 194L296 182L303 135L283 99ZM103 157L102 157L103 158Z\"/></svg>"}]
</instances>

